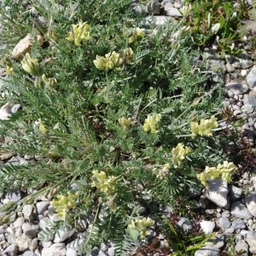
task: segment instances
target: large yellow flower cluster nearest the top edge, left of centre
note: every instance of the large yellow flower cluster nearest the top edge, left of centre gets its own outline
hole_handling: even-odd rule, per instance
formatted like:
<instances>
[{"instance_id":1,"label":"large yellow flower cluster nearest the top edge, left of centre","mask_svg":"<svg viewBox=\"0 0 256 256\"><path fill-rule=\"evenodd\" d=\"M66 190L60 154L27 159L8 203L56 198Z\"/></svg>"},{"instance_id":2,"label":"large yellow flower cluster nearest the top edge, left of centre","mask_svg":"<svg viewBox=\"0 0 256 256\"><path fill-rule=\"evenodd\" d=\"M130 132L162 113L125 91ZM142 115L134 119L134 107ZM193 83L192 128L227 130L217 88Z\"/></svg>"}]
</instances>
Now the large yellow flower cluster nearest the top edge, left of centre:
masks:
<instances>
[{"instance_id":1,"label":"large yellow flower cluster nearest the top edge, left of centre","mask_svg":"<svg viewBox=\"0 0 256 256\"><path fill-rule=\"evenodd\" d=\"M82 41L90 39L90 25L87 22L79 22L79 24L72 25L73 31L69 32L68 41L74 42L75 45L80 46Z\"/></svg>"}]
</instances>

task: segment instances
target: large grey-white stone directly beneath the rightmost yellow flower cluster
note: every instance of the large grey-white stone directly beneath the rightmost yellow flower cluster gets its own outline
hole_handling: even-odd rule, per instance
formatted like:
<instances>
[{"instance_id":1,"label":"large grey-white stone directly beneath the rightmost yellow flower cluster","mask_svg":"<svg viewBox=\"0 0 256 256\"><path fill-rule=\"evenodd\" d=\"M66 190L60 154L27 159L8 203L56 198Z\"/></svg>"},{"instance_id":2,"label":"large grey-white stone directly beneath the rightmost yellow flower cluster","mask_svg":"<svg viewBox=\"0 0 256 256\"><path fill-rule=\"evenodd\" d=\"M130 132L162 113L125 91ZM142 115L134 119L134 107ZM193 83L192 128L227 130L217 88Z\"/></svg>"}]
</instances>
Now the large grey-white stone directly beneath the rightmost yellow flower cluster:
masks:
<instances>
[{"instance_id":1,"label":"large grey-white stone directly beneath the rightmost yellow flower cluster","mask_svg":"<svg viewBox=\"0 0 256 256\"><path fill-rule=\"evenodd\" d=\"M226 207L228 205L228 193L228 183L222 179L209 180L208 188L204 189L204 194L208 200L215 203L218 207Z\"/></svg>"}]
</instances>

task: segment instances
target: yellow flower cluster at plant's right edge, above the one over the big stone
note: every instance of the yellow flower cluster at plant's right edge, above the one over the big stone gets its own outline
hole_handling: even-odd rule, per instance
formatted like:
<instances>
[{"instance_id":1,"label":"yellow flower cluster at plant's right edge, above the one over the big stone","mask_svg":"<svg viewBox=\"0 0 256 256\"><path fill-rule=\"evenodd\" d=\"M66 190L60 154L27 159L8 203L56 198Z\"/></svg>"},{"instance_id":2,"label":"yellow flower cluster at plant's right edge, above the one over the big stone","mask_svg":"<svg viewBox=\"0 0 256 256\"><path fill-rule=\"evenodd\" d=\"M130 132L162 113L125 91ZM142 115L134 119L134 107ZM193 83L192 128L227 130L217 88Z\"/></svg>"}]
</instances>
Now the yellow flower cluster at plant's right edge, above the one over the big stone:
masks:
<instances>
[{"instance_id":1,"label":"yellow flower cluster at plant's right edge, above the one over the big stone","mask_svg":"<svg viewBox=\"0 0 256 256\"><path fill-rule=\"evenodd\" d=\"M211 119L201 119L200 125L196 122L191 123L192 136L212 136L212 129L218 127L217 119L212 116Z\"/></svg>"}]
</instances>

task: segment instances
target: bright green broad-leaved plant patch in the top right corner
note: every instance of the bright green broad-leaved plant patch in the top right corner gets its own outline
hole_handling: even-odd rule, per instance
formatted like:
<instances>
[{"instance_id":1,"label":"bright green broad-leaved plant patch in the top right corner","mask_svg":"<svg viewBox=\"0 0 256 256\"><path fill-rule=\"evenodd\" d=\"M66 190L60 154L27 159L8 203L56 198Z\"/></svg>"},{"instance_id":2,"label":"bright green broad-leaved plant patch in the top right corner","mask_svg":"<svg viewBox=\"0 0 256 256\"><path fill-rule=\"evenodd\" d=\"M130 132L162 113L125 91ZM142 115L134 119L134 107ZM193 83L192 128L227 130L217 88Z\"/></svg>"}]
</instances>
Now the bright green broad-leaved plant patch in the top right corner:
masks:
<instances>
[{"instance_id":1,"label":"bright green broad-leaved plant patch in the top right corner","mask_svg":"<svg viewBox=\"0 0 256 256\"><path fill-rule=\"evenodd\" d=\"M218 49L236 53L242 33L239 30L241 20L249 17L245 0L240 1L194 1L187 0L192 5L192 15L186 17L186 25L190 26L195 44L206 45L217 41Z\"/></svg>"}]
</instances>

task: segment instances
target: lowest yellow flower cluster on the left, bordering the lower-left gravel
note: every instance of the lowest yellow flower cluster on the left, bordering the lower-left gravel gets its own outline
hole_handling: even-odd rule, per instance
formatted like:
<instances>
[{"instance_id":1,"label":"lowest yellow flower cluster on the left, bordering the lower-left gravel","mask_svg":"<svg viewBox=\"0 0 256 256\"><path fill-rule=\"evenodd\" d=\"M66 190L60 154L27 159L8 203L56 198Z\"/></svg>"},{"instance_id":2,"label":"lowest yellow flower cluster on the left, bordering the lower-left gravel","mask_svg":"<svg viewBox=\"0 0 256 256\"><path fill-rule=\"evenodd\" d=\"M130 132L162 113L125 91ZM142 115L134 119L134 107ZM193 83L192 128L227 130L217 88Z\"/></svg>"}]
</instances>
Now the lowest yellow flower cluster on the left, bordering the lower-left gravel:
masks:
<instances>
[{"instance_id":1,"label":"lowest yellow flower cluster on the left, bordering the lower-left gravel","mask_svg":"<svg viewBox=\"0 0 256 256\"><path fill-rule=\"evenodd\" d=\"M67 195L57 195L58 200L51 201L51 204L55 207L57 216L65 220L67 217L67 212L77 207L77 199L79 197L79 192L72 194L67 192Z\"/></svg>"}]
</instances>

